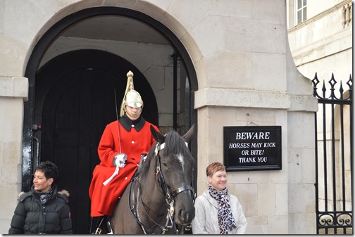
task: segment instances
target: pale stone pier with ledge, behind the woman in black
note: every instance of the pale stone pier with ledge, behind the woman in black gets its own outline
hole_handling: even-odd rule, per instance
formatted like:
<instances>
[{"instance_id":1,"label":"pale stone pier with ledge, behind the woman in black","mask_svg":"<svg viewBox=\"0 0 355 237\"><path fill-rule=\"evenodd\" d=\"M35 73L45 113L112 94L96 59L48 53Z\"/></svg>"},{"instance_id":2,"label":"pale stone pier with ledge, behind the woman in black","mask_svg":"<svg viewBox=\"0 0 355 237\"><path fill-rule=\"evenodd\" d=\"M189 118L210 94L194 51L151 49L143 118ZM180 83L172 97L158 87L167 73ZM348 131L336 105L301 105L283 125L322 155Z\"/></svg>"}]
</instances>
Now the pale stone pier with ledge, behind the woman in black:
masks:
<instances>
[{"instance_id":1,"label":"pale stone pier with ledge, behind the woman in black","mask_svg":"<svg viewBox=\"0 0 355 237\"><path fill-rule=\"evenodd\" d=\"M23 101L25 77L0 77L0 233L8 233L22 179Z\"/></svg>"}]
</instances>

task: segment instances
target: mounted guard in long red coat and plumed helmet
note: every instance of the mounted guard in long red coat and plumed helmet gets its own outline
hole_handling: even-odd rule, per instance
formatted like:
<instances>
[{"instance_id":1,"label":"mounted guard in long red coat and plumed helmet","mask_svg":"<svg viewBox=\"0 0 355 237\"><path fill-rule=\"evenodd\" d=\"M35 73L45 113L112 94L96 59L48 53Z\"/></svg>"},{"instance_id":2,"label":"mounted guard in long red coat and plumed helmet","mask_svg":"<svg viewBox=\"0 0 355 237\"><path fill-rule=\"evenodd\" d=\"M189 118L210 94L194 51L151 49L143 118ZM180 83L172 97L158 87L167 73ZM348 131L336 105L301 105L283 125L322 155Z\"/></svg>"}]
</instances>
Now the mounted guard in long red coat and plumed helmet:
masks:
<instances>
[{"instance_id":1,"label":"mounted guard in long red coat and plumed helmet","mask_svg":"<svg viewBox=\"0 0 355 237\"><path fill-rule=\"evenodd\" d=\"M116 91L115 91L116 102ZM106 125L97 151L100 164L96 165L89 186L91 217L89 233L101 233L101 224L107 223L112 233L109 217L125 188L153 146L152 125L142 117L143 101L133 84L133 73L127 72L125 95L120 106L120 117Z\"/></svg>"}]
</instances>

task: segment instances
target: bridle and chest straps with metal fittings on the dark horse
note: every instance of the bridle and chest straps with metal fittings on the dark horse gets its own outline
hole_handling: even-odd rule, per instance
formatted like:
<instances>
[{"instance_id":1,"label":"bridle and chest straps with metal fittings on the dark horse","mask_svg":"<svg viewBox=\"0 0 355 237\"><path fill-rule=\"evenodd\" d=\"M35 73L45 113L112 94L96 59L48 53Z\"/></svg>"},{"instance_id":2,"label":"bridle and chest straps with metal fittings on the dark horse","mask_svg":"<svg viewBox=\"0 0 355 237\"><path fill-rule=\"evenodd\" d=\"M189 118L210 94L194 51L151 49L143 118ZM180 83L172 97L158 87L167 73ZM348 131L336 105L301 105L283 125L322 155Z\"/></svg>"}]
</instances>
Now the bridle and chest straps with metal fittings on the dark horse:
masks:
<instances>
[{"instance_id":1,"label":"bridle and chest straps with metal fittings on the dark horse","mask_svg":"<svg viewBox=\"0 0 355 237\"><path fill-rule=\"evenodd\" d=\"M185 142L186 146L188 146L188 144ZM173 217L174 214L174 198L175 196L177 196L179 193L182 193L184 191L191 191L192 192L192 202L194 203L194 200L196 199L196 193L194 191L194 187L193 186L189 186L189 185L184 185L181 186L179 188L177 188L175 191L170 192L168 186L166 185L166 181L163 177L163 173L161 172L161 162L160 162L160 155L159 155L159 151L162 150L165 147L165 143L162 143L161 145L159 145L159 143L156 143L156 148L154 150L154 155L156 157L156 176L158 176L158 183L161 185L161 189L163 190L163 192L165 193L166 196L166 203L168 204L168 214L166 215L166 225L165 226L161 226L160 224L156 223L153 219L151 219L151 217L149 216L149 214L147 213L146 207L142 201L142 205L144 207L144 210L147 214L147 216L149 217L149 219L151 219L152 222L154 222L154 226L146 226L142 223L142 221L140 220L139 217L139 213L138 213L138 203L139 203L139 187L140 187L140 175L139 177L136 177L134 179L134 184L137 181L137 179L139 180L139 186L137 188L137 203L135 203L135 185L131 185L130 187L130 196L132 194L132 198L129 198L129 200L132 200L132 202L134 203L133 205L131 205L131 203L129 203L130 205L130 210L133 214L133 217L135 217L137 223L142 227L142 230L144 231L144 233L147 234L147 231L145 229L153 229L156 226L159 226L162 229L162 234L165 233L166 231L168 231L168 229L170 228L174 228L175 230L175 219ZM132 183L133 184L133 183ZM192 185L194 184L194 174L192 172ZM170 225L169 225L170 222ZM175 233L176 231L174 231Z\"/></svg>"}]
</instances>

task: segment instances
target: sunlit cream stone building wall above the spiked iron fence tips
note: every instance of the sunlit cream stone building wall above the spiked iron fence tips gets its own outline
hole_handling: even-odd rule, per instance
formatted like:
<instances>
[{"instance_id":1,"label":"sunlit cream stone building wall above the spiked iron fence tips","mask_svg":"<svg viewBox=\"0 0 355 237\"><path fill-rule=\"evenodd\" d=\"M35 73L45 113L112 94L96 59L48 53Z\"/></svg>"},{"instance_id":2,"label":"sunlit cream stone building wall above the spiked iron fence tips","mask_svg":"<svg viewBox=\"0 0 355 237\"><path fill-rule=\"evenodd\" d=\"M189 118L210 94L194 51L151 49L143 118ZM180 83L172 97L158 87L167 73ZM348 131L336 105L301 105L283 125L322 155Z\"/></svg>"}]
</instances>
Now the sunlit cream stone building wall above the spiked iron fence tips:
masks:
<instances>
[{"instance_id":1,"label":"sunlit cream stone building wall above the spiked iron fence tips","mask_svg":"<svg viewBox=\"0 0 355 237\"><path fill-rule=\"evenodd\" d=\"M313 3L314 5L314 3ZM323 4L322 4L323 5ZM347 81L352 72L351 1L337 1L327 8L314 9L309 20L289 29L289 47L299 72L310 79ZM323 6L324 7L324 6ZM323 11L322 11L323 9Z\"/></svg>"}]
</instances>

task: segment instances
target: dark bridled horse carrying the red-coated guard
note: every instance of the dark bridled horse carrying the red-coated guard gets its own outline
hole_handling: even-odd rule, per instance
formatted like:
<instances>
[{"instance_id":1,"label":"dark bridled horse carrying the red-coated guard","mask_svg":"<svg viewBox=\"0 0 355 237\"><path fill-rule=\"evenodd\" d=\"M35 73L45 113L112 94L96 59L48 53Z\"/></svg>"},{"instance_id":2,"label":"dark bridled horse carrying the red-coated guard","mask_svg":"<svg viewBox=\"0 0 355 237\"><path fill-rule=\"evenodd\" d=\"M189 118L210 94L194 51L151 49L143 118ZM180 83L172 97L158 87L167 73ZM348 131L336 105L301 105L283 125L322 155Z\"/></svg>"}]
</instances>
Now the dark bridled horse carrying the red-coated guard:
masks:
<instances>
[{"instance_id":1,"label":"dark bridled horse carrying the red-coated guard","mask_svg":"<svg viewBox=\"0 0 355 237\"><path fill-rule=\"evenodd\" d=\"M194 219L195 162L187 147L194 125L184 136L154 127L151 134L156 143L113 211L115 234L182 233Z\"/></svg>"}]
</instances>

